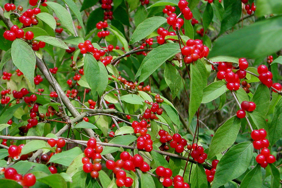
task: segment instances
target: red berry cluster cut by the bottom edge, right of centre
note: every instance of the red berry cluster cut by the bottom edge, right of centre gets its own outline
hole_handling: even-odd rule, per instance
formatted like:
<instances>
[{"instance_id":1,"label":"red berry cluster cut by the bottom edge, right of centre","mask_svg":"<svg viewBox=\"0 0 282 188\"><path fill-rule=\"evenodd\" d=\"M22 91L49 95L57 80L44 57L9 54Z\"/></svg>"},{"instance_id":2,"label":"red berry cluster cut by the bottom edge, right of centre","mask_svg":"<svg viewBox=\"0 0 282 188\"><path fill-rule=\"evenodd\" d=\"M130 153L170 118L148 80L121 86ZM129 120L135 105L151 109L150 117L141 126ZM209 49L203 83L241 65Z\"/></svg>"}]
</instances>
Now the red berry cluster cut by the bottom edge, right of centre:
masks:
<instances>
[{"instance_id":1,"label":"red berry cluster cut by the bottom edge, right of centre","mask_svg":"<svg viewBox=\"0 0 282 188\"><path fill-rule=\"evenodd\" d=\"M170 168L158 166L156 175L160 176L159 181L164 187L170 187L174 184L174 188L190 188L189 184L184 182L182 176L176 175L172 180L172 170Z\"/></svg>"}]
</instances>

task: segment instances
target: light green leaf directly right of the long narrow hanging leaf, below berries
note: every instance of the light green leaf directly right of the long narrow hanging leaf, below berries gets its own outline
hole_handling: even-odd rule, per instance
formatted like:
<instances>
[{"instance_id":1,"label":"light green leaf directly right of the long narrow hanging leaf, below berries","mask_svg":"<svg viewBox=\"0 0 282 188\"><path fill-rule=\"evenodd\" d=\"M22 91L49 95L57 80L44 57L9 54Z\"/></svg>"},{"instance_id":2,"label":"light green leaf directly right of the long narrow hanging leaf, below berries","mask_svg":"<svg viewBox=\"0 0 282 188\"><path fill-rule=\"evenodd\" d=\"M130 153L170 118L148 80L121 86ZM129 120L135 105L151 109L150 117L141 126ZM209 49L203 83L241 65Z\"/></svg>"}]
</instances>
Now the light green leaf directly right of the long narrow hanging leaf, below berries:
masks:
<instances>
[{"instance_id":1,"label":"light green leaf directly right of the long narrow hanging leaf, below berries","mask_svg":"<svg viewBox=\"0 0 282 188\"><path fill-rule=\"evenodd\" d=\"M223 95L228 89L226 88L225 82L217 81L212 82L203 89L202 103L208 103Z\"/></svg>"}]
</instances>

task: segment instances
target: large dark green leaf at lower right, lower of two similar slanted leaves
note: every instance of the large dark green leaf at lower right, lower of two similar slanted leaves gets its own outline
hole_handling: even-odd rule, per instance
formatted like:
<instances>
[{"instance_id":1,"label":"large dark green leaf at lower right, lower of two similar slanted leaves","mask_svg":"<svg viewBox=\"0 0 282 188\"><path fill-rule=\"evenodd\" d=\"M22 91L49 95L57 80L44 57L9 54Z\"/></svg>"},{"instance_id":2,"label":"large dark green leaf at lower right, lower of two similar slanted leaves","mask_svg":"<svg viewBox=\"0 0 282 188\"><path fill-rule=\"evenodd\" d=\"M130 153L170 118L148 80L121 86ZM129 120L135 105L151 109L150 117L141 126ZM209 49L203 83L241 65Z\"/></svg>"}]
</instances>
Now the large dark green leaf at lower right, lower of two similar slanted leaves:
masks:
<instances>
[{"instance_id":1,"label":"large dark green leaf at lower right, lower of two similar slanted leaves","mask_svg":"<svg viewBox=\"0 0 282 188\"><path fill-rule=\"evenodd\" d=\"M248 169L252 157L252 142L242 142L230 148L217 164L213 188L241 176Z\"/></svg>"}]
</instances>

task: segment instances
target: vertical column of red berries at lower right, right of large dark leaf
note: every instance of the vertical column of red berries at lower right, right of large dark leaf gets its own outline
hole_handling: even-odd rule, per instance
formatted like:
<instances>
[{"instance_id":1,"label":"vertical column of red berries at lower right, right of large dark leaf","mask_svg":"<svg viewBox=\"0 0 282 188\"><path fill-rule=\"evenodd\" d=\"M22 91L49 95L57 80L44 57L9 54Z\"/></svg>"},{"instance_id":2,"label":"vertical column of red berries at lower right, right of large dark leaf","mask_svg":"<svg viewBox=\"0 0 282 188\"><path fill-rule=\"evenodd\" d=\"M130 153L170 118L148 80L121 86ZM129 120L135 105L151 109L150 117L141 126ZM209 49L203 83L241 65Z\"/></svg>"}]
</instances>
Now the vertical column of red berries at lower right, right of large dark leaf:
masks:
<instances>
[{"instance_id":1,"label":"vertical column of red berries at lower right, right of large dark leaf","mask_svg":"<svg viewBox=\"0 0 282 188\"><path fill-rule=\"evenodd\" d=\"M261 167L267 167L268 163L275 162L275 156L270 155L270 150L267 148L269 146L269 141L265 138L267 132L264 129L253 130L251 137L254 140L253 146L255 149L260 150L260 154L256 156L256 162L261 165Z\"/></svg>"}]
</instances>

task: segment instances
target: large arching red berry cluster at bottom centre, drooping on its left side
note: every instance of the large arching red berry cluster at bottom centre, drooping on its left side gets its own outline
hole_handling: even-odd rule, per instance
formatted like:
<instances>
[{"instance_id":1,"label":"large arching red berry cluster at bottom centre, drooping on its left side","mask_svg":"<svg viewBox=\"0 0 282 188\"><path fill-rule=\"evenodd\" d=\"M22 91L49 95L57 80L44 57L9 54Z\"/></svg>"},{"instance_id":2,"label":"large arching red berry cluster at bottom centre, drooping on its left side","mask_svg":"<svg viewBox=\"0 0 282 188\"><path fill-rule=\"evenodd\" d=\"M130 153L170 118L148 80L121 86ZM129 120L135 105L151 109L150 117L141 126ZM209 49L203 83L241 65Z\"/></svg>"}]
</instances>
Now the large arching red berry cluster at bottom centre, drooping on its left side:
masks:
<instances>
[{"instance_id":1,"label":"large arching red berry cluster at bottom centre, drooping on its left side","mask_svg":"<svg viewBox=\"0 0 282 188\"><path fill-rule=\"evenodd\" d=\"M126 177L126 172L124 170L132 170L135 172L136 167L138 167L142 172L150 170L150 166L144 161L142 156L136 154L132 157L127 151L120 153L120 160L117 160L116 162L113 160L106 161L106 168L113 170L118 187L130 187L132 185L133 179ZM121 170L121 168L124 170Z\"/></svg>"}]
</instances>

